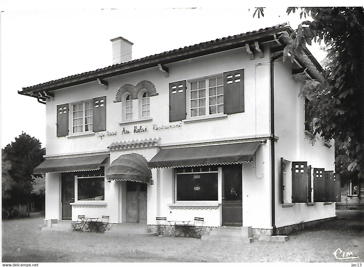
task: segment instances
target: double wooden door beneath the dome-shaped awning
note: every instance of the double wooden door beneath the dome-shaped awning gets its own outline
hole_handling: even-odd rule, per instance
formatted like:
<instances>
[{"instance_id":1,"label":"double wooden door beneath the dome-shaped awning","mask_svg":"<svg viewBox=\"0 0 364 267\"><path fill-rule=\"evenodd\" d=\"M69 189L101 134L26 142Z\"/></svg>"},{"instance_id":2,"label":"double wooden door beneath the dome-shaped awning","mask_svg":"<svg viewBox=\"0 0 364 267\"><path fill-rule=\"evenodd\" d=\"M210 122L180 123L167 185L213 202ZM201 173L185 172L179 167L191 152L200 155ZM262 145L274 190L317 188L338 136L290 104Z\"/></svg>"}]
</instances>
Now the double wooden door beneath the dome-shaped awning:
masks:
<instances>
[{"instance_id":1,"label":"double wooden door beneath the dome-shaped awning","mask_svg":"<svg viewBox=\"0 0 364 267\"><path fill-rule=\"evenodd\" d=\"M147 223L147 184L126 182L126 222Z\"/></svg>"}]
</instances>

